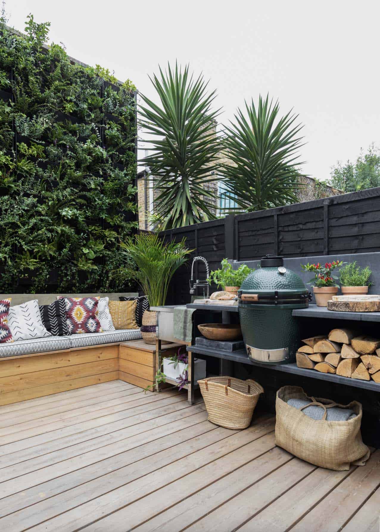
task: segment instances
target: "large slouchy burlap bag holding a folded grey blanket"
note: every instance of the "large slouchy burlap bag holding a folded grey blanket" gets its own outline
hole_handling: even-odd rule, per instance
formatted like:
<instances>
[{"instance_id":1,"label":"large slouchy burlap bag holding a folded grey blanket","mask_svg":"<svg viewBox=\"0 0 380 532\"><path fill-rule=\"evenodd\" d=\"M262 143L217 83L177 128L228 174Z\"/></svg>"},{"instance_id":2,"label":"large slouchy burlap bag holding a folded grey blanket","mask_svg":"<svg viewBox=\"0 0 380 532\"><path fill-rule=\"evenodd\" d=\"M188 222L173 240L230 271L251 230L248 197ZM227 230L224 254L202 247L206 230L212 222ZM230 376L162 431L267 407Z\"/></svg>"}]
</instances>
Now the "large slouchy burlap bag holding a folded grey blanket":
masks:
<instances>
[{"instance_id":1,"label":"large slouchy burlap bag holding a folded grey blanket","mask_svg":"<svg viewBox=\"0 0 380 532\"><path fill-rule=\"evenodd\" d=\"M276 445L302 460L335 471L348 470L351 464L365 465L369 458L369 448L361 439L360 403L352 401L341 405L317 397L315 400L322 405L350 408L357 414L356 418L348 421L326 421L326 413L323 419L311 419L301 410L288 405L287 401L291 398L310 400L310 403L314 401L299 386L284 386L278 390Z\"/></svg>"}]
</instances>

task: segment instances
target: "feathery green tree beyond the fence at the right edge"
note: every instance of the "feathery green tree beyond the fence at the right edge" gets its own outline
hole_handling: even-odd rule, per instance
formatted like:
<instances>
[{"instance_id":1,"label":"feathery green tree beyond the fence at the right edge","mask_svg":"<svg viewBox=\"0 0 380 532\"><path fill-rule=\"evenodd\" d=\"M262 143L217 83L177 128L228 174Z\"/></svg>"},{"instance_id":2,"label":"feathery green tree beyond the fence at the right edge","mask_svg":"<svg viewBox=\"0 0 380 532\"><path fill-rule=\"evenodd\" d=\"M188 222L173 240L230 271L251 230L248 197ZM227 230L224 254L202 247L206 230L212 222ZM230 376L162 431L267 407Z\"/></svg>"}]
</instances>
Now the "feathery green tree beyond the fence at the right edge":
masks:
<instances>
[{"instance_id":1,"label":"feathery green tree beyond the fence at the right edge","mask_svg":"<svg viewBox=\"0 0 380 532\"><path fill-rule=\"evenodd\" d=\"M347 161L342 164L340 161L331 169L332 187L343 190L343 192L356 192L366 188L380 186L380 150L372 143L367 153L360 150L356 162Z\"/></svg>"}]
</instances>

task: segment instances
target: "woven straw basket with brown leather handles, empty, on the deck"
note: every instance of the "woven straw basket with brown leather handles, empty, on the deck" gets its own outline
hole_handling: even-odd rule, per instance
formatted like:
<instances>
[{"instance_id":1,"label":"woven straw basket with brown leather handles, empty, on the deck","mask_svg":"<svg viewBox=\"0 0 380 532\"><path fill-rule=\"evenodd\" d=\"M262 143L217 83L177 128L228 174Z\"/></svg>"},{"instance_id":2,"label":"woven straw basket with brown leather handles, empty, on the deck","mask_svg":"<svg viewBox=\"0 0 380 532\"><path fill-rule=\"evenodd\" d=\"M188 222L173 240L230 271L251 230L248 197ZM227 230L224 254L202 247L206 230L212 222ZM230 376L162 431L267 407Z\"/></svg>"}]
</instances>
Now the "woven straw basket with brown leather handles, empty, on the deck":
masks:
<instances>
[{"instance_id":1,"label":"woven straw basket with brown leather handles, empty, on the deck","mask_svg":"<svg viewBox=\"0 0 380 532\"><path fill-rule=\"evenodd\" d=\"M249 427L263 388L254 380L211 377L198 381L209 421L227 429Z\"/></svg>"}]
</instances>

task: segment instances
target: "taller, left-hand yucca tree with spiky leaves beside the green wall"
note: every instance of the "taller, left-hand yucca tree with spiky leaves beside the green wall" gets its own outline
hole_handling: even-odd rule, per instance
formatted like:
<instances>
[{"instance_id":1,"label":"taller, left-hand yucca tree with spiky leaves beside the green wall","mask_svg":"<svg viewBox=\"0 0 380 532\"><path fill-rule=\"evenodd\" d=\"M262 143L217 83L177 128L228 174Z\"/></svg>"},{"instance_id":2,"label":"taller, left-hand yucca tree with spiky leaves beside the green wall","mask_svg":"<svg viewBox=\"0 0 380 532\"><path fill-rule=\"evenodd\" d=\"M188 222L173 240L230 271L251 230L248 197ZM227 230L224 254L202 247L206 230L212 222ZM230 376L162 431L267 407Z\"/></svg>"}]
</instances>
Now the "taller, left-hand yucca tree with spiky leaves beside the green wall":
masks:
<instances>
[{"instance_id":1,"label":"taller, left-hand yucca tree with spiky leaves beside the green wall","mask_svg":"<svg viewBox=\"0 0 380 532\"><path fill-rule=\"evenodd\" d=\"M220 149L215 132L218 111L211 106L215 91L207 93L203 76L189 76L177 62L150 78L161 105L141 95L140 123L154 136L151 155L144 159L154 176L156 211L163 229L183 227L214 219L214 194L202 185L215 181ZM212 173L211 173L212 172Z\"/></svg>"}]
</instances>

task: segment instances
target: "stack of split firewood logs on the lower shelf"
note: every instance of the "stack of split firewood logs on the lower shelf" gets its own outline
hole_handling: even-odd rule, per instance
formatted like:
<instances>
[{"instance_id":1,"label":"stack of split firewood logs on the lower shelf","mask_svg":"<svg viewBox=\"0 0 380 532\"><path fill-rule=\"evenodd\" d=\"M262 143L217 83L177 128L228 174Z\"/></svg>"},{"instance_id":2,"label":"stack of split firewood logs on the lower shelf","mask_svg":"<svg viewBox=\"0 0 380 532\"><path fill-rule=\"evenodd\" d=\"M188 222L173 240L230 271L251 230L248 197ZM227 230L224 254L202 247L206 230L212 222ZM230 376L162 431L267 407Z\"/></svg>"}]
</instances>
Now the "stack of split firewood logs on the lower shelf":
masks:
<instances>
[{"instance_id":1,"label":"stack of split firewood logs on the lower shelf","mask_svg":"<svg viewBox=\"0 0 380 532\"><path fill-rule=\"evenodd\" d=\"M380 383L380 340L358 336L350 329L333 329L328 336L319 335L302 340L296 353L299 368L336 373L352 379Z\"/></svg>"}]
</instances>

